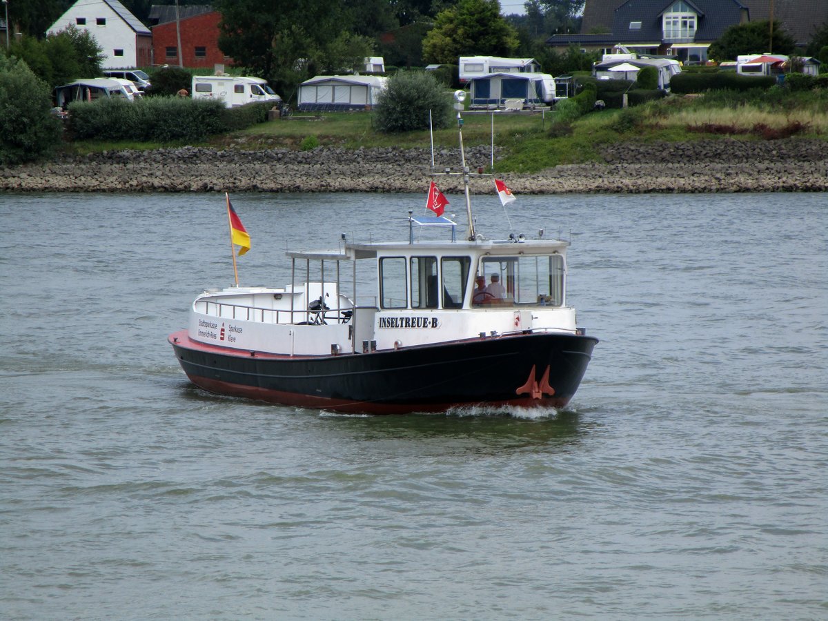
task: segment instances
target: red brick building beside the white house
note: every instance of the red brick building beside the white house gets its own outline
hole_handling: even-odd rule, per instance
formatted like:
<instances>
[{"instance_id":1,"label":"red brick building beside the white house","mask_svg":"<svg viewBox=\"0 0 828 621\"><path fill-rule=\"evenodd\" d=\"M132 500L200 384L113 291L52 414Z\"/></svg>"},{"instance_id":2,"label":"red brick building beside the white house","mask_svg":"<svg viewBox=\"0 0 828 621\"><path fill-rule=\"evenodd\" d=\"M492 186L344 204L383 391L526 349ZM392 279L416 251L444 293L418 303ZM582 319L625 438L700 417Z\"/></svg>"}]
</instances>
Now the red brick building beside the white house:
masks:
<instances>
[{"instance_id":1,"label":"red brick building beside the white house","mask_svg":"<svg viewBox=\"0 0 828 621\"><path fill-rule=\"evenodd\" d=\"M153 64L181 64L191 69L233 65L233 59L219 50L219 22L221 13L209 5L178 7L177 21L176 7L153 5L150 9Z\"/></svg>"}]
</instances>

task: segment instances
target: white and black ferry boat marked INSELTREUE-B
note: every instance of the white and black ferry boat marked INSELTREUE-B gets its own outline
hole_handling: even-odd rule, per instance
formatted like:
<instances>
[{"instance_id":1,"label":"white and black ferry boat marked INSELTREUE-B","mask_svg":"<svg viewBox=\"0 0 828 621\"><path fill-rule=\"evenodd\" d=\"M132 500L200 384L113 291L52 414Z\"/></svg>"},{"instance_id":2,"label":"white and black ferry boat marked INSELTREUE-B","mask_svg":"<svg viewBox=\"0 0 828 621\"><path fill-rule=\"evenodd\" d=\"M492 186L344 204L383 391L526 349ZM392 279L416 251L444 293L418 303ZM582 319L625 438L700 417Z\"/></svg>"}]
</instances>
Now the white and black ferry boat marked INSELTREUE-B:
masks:
<instances>
[{"instance_id":1,"label":"white and black ferry boat marked INSELTREUE-B","mask_svg":"<svg viewBox=\"0 0 828 621\"><path fill-rule=\"evenodd\" d=\"M462 165L465 240L441 215L427 224L450 240L415 240L423 220L409 211L407 240L289 252L286 286L197 296L187 329L169 336L190 381L344 413L565 407L598 343L566 299L570 242L479 236Z\"/></svg>"}]
</instances>

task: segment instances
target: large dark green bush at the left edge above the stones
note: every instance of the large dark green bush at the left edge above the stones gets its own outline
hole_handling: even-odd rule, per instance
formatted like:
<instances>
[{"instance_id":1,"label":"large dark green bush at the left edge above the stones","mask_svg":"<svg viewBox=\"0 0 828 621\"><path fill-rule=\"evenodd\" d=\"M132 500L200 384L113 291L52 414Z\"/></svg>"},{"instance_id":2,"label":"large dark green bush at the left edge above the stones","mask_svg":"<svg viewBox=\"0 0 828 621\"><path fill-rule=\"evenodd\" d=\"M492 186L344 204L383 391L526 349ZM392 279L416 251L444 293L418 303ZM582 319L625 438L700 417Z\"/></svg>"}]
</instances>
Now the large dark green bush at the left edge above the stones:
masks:
<instances>
[{"instance_id":1,"label":"large dark green bush at the left edge above the stones","mask_svg":"<svg viewBox=\"0 0 828 621\"><path fill-rule=\"evenodd\" d=\"M62 137L51 92L25 62L0 53L0 164L36 160Z\"/></svg>"}]
</instances>

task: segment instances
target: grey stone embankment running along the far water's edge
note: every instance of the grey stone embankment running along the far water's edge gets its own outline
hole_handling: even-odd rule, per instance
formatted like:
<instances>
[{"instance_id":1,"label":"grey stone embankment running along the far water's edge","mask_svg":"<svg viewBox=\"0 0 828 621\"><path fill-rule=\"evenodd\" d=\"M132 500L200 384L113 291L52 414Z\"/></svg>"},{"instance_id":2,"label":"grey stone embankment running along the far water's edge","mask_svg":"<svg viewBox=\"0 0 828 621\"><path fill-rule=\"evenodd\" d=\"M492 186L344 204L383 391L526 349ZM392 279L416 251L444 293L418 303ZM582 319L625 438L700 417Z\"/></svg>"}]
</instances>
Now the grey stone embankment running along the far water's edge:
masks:
<instances>
[{"instance_id":1,"label":"grey stone embankment running along the far water's edge","mask_svg":"<svg viewBox=\"0 0 828 621\"><path fill-rule=\"evenodd\" d=\"M604 148L602 156L600 164L498 176L521 194L828 191L828 142L820 140L625 143ZM488 147L466 152L473 168L489 166L490 158ZM456 171L459 161L457 150L435 154L436 170ZM0 167L0 190L425 192L430 167L431 152L423 149L302 152L181 147ZM445 192L455 192L461 180L441 177L439 185ZM473 178L472 191L491 192L490 179Z\"/></svg>"}]
</instances>

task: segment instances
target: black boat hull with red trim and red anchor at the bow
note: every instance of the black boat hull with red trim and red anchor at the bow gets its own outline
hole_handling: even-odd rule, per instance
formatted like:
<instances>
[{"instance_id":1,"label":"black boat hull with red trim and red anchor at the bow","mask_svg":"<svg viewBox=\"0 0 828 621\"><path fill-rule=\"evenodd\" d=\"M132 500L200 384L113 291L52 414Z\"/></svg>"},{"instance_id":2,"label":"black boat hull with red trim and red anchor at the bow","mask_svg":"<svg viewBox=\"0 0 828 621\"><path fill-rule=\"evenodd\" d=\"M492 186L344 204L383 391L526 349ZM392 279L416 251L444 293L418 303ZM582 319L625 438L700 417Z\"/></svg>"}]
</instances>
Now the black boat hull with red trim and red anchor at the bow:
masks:
<instances>
[{"instance_id":1,"label":"black boat hull with red trim and red anchor at the bow","mask_svg":"<svg viewBox=\"0 0 828 621\"><path fill-rule=\"evenodd\" d=\"M209 392L335 412L403 414L473 405L564 407L598 339L521 334L336 356L276 356L170 336Z\"/></svg>"}]
</instances>

